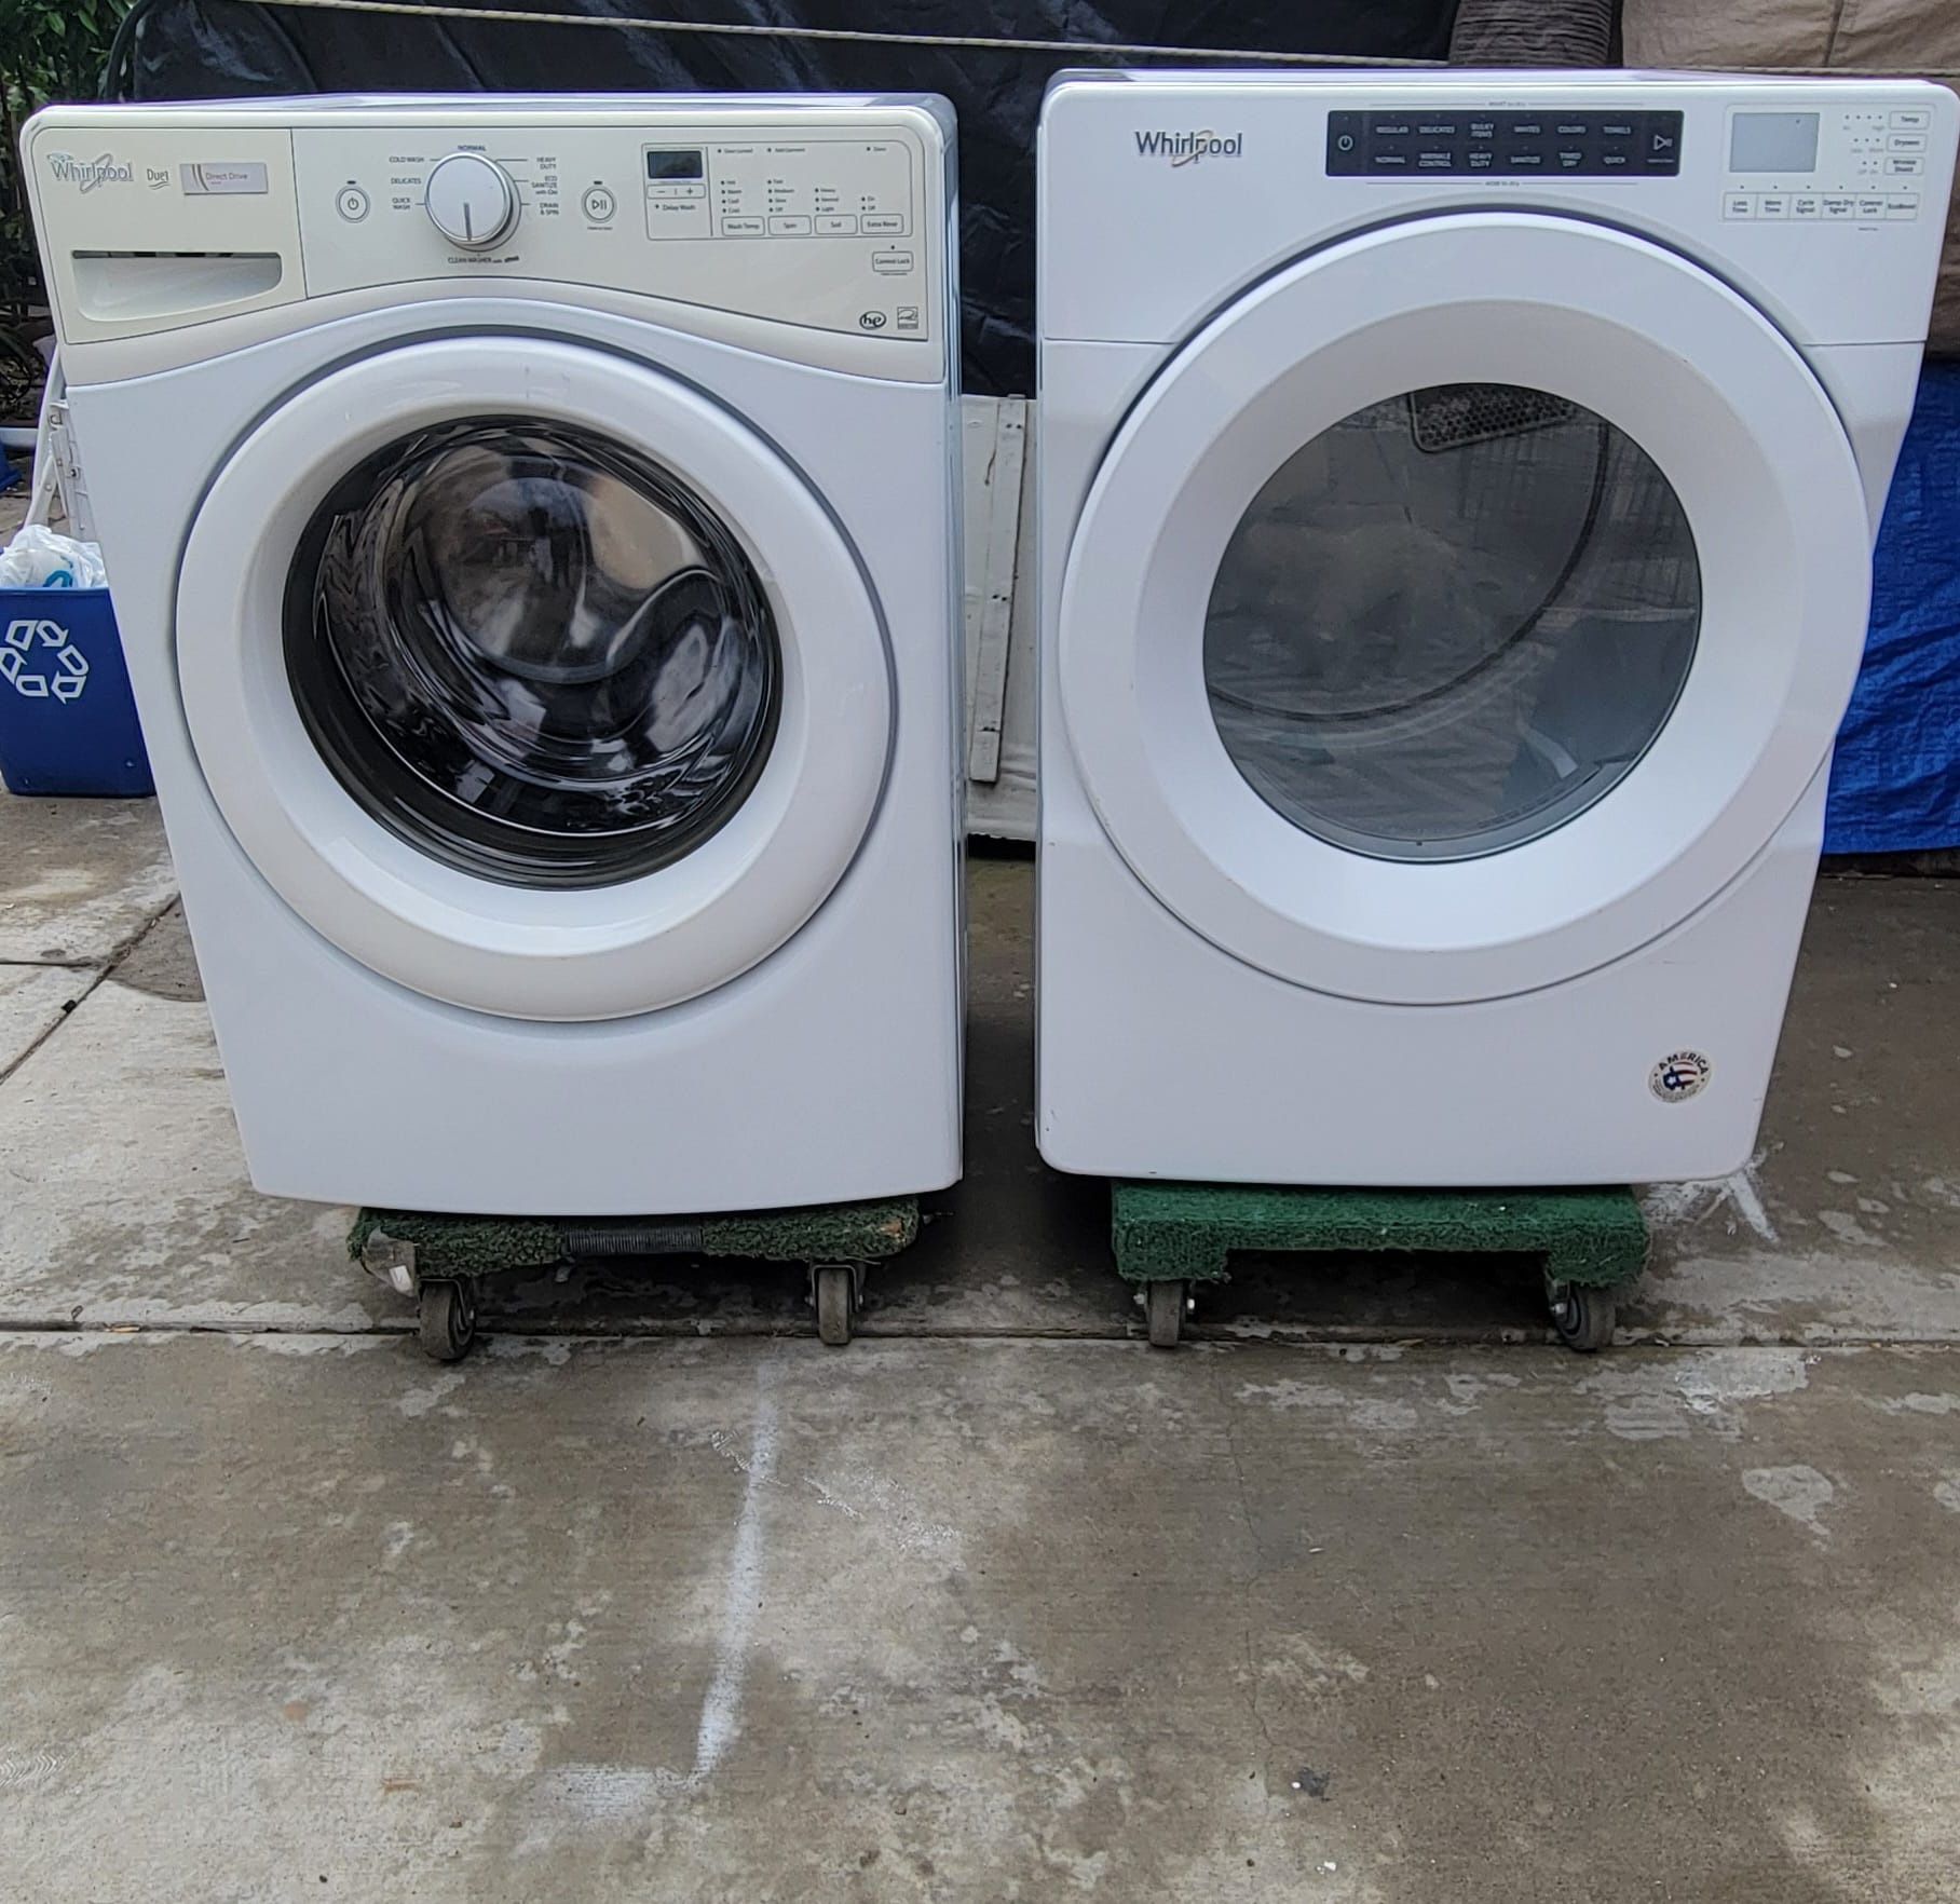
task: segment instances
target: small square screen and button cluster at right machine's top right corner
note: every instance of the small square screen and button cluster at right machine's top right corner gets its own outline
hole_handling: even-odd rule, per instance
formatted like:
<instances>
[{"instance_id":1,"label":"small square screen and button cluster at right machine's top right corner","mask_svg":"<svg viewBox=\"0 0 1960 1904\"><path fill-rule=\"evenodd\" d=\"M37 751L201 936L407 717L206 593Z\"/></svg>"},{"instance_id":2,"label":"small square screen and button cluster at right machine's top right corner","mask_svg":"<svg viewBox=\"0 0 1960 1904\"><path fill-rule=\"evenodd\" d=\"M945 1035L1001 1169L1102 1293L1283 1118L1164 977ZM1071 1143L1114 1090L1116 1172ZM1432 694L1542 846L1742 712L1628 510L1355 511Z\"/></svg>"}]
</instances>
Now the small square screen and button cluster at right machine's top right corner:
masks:
<instances>
[{"instance_id":1,"label":"small square screen and button cluster at right machine's top right corner","mask_svg":"<svg viewBox=\"0 0 1960 1904\"><path fill-rule=\"evenodd\" d=\"M1929 106L1733 108L1725 131L1725 220L1876 225L1919 218L1933 147ZM1944 188L1936 180L1942 208Z\"/></svg>"}]
</instances>

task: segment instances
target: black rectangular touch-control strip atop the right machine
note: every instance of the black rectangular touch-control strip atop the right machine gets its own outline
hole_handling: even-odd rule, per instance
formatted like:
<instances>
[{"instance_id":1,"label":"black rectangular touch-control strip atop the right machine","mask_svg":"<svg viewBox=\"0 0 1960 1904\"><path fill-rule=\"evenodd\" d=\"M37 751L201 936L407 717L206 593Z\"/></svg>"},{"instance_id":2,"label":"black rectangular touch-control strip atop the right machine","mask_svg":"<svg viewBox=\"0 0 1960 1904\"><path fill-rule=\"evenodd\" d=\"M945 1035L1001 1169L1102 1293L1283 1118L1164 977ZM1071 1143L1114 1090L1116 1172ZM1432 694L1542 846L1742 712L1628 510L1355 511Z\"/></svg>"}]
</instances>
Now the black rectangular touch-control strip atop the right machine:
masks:
<instances>
[{"instance_id":1,"label":"black rectangular touch-control strip atop the right machine","mask_svg":"<svg viewBox=\"0 0 1960 1904\"><path fill-rule=\"evenodd\" d=\"M1337 178L1439 173L1666 176L1682 169L1678 112L1331 112Z\"/></svg>"}]
</instances>

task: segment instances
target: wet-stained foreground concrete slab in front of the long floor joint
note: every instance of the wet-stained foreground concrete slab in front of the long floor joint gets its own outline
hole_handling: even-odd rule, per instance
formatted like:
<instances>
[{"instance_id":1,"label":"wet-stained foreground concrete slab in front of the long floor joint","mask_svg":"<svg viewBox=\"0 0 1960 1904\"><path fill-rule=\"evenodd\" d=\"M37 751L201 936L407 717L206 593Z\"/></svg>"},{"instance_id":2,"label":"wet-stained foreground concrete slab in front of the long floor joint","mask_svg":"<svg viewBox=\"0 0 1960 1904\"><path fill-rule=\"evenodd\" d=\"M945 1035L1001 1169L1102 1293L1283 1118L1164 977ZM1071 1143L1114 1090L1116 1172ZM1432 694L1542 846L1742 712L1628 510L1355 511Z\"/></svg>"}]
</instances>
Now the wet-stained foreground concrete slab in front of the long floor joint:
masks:
<instances>
[{"instance_id":1,"label":"wet-stained foreground concrete slab in front of the long floor joint","mask_svg":"<svg viewBox=\"0 0 1960 1904\"><path fill-rule=\"evenodd\" d=\"M1960 1357L14 1337L0 1892L1952 1896Z\"/></svg>"}]
</instances>

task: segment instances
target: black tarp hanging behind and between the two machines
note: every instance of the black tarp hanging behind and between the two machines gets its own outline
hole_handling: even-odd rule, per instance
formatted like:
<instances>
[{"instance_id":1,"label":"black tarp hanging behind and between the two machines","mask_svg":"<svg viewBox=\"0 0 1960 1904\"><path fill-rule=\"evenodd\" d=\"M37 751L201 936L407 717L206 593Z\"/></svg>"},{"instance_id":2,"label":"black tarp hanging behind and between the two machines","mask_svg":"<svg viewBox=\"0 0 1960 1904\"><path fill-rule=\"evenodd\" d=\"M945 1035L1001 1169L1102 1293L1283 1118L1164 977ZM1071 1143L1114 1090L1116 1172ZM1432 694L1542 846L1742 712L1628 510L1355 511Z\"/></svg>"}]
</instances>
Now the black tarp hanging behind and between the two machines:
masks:
<instances>
[{"instance_id":1,"label":"black tarp hanging behind and between the two machines","mask_svg":"<svg viewBox=\"0 0 1960 1904\"><path fill-rule=\"evenodd\" d=\"M474 0L459 0L463 6ZM1000 51L149 0L125 98L269 92L943 92L960 120L966 386L1033 388L1035 120L1096 45L1443 59L1456 0L512 0L594 18L1068 41ZM1196 63L1190 57L1178 65Z\"/></svg>"}]
</instances>

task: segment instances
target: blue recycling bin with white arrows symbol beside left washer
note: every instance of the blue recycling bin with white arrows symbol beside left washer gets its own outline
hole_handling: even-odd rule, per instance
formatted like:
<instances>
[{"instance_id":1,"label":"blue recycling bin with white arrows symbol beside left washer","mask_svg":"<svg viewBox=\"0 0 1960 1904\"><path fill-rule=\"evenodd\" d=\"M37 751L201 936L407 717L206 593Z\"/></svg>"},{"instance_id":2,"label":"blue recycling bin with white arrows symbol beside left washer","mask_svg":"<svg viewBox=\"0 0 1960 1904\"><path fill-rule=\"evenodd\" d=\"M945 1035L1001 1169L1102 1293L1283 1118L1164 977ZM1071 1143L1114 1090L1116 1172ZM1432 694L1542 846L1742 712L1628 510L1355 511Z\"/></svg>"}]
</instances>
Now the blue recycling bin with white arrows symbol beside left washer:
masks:
<instances>
[{"instance_id":1,"label":"blue recycling bin with white arrows symbol beside left washer","mask_svg":"<svg viewBox=\"0 0 1960 1904\"><path fill-rule=\"evenodd\" d=\"M0 588L0 778L16 794L149 794L108 588Z\"/></svg>"}]
</instances>

